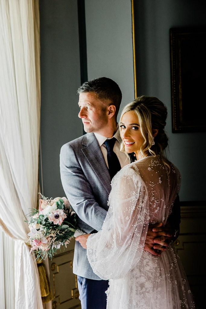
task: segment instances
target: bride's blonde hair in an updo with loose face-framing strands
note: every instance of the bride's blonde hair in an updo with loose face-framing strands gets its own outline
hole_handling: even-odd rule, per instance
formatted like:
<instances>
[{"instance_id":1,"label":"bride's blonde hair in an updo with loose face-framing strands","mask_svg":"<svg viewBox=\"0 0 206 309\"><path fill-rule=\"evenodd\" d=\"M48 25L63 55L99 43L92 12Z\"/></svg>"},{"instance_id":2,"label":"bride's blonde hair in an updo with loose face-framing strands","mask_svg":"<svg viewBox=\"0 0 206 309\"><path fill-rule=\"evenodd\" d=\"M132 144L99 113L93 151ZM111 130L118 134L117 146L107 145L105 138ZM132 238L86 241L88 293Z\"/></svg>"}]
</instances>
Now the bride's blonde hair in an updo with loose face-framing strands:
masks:
<instances>
[{"instance_id":1,"label":"bride's blonde hair in an updo with loose face-framing strands","mask_svg":"<svg viewBox=\"0 0 206 309\"><path fill-rule=\"evenodd\" d=\"M120 122L124 113L131 111L138 117L141 135L145 140L137 159L150 155L160 155L162 157L165 148L168 146L168 137L164 130L167 118L165 104L156 97L142 95L123 108ZM153 138L153 134L157 131L158 133ZM120 150L125 152L123 142L121 143Z\"/></svg>"}]
</instances>

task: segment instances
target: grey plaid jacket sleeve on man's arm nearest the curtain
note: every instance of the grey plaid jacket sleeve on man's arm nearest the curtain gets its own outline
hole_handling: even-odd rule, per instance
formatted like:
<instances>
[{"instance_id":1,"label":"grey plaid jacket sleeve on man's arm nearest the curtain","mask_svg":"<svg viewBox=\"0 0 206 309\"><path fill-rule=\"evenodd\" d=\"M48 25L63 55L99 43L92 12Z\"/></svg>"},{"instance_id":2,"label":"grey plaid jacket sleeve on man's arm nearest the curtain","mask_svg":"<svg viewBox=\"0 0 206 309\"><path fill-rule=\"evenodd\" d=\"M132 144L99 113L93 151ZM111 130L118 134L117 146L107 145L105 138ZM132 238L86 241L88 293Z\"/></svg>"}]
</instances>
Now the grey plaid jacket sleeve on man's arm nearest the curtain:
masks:
<instances>
[{"instance_id":1,"label":"grey plaid jacket sleeve on man's arm nearest the curtain","mask_svg":"<svg viewBox=\"0 0 206 309\"><path fill-rule=\"evenodd\" d=\"M82 170L73 147L65 144L60 151L60 175L65 194L77 213L80 227L86 233L99 231L107 210L96 201L90 183Z\"/></svg>"}]
</instances>

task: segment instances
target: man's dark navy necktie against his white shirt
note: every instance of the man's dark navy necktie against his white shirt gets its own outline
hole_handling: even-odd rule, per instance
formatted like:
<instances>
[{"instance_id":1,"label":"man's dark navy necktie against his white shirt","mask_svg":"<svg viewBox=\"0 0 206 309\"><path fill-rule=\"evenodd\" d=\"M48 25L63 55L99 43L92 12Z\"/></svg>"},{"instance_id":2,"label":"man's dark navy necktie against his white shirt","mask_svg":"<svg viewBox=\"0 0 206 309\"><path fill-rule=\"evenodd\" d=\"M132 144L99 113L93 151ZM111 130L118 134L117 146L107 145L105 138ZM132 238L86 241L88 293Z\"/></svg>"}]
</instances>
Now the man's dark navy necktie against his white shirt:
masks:
<instances>
[{"instance_id":1,"label":"man's dark navy necktie against his white shirt","mask_svg":"<svg viewBox=\"0 0 206 309\"><path fill-rule=\"evenodd\" d=\"M118 171L121 169L120 162L117 158L116 153L113 151L114 144L116 142L116 138L113 137L111 139L107 139L104 144L107 147L107 162L109 167L109 175L112 180L112 178L116 175Z\"/></svg>"}]
</instances>

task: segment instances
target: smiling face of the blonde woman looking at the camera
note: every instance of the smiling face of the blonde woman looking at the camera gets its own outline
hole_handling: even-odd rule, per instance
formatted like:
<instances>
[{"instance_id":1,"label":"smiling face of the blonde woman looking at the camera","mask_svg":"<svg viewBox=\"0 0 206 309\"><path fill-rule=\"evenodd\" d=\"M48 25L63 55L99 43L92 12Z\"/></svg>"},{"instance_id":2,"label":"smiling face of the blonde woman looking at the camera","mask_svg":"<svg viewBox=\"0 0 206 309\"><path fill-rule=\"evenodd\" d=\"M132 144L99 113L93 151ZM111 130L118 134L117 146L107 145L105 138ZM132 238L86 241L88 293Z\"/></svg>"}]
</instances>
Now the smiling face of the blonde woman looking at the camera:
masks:
<instances>
[{"instance_id":1,"label":"smiling face of the blonde woman looking at the camera","mask_svg":"<svg viewBox=\"0 0 206 309\"><path fill-rule=\"evenodd\" d=\"M135 152L138 157L144 138L141 136L139 120L135 112L124 113L120 122L120 134L125 151L127 153Z\"/></svg>"}]
</instances>

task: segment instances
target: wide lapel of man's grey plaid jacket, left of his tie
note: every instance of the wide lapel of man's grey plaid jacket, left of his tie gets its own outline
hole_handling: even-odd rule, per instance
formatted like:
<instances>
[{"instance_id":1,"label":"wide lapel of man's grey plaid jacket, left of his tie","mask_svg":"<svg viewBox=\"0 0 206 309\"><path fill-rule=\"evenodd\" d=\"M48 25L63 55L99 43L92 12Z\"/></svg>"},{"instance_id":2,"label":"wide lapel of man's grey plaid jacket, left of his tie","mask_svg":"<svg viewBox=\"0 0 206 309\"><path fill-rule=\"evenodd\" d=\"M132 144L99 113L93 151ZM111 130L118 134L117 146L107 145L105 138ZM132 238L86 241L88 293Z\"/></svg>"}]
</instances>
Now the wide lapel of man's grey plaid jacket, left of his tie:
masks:
<instances>
[{"instance_id":1,"label":"wide lapel of man's grey plaid jacket, left of his tie","mask_svg":"<svg viewBox=\"0 0 206 309\"><path fill-rule=\"evenodd\" d=\"M82 145L85 146L85 148L82 148L83 154L109 194L111 191L111 179L107 164L94 133L87 133Z\"/></svg>"}]
</instances>

